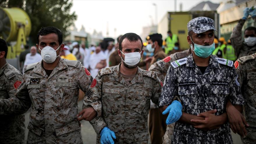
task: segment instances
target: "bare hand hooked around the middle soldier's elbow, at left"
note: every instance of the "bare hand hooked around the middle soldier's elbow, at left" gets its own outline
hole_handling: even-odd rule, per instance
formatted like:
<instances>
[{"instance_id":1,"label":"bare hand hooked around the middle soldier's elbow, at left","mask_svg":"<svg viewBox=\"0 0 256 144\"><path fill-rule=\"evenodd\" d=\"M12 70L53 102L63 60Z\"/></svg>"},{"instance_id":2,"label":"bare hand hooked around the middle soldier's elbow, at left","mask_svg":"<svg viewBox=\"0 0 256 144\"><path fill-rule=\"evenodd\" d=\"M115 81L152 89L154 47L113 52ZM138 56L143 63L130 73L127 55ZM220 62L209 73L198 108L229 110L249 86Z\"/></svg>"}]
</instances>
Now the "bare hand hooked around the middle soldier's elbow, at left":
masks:
<instances>
[{"instance_id":1,"label":"bare hand hooked around the middle soldier's elbow, at left","mask_svg":"<svg viewBox=\"0 0 256 144\"><path fill-rule=\"evenodd\" d=\"M79 117L80 115L81 115L81 117ZM93 109L93 107L88 107L78 113L77 120L91 121L91 120L93 120L93 118L96 117L96 115L97 115L97 112Z\"/></svg>"}]
</instances>

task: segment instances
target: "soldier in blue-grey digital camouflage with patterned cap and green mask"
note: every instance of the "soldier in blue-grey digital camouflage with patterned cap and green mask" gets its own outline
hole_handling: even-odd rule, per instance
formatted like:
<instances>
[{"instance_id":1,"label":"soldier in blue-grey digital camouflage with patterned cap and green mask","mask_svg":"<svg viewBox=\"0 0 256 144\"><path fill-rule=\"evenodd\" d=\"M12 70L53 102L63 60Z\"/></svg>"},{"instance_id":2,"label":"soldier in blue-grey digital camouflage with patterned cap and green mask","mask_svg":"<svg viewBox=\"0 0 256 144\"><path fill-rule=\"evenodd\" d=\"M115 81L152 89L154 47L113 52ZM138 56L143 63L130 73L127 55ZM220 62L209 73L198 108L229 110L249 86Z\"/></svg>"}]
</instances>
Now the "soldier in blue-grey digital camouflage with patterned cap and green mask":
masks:
<instances>
[{"instance_id":1,"label":"soldier in blue-grey digital camouflage with patterned cap and green mask","mask_svg":"<svg viewBox=\"0 0 256 144\"><path fill-rule=\"evenodd\" d=\"M187 26L193 53L171 62L159 99L162 109L175 99L182 103L172 143L232 143L225 108L231 102L242 111L238 75L232 61L211 55L216 31L212 19L198 17Z\"/></svg>"}]
</instances>

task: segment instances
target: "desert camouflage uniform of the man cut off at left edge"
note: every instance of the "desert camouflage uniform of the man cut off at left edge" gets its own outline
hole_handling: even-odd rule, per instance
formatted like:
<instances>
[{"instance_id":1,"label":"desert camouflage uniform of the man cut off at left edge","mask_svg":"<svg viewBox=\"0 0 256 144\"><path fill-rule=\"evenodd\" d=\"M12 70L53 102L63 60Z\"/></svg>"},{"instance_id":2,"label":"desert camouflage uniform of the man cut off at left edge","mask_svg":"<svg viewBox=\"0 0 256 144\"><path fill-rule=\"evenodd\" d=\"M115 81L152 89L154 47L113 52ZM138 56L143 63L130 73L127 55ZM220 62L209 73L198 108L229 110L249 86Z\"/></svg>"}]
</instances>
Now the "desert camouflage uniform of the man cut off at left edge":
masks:
<instances>
[{"instance_id":1,"label":"desert camouflage uniform of the man cut off at left edge","mask_svg":"<svg viewBox=\"0 0 256 144\"><path fill-rule=\"evenodd\" d=\"M12 99L22 81L22 74L6 63L0 69L0 99ZM22 143L25 139L25 116L0 115L0 143Z\"/></svg>"}]
</instances>

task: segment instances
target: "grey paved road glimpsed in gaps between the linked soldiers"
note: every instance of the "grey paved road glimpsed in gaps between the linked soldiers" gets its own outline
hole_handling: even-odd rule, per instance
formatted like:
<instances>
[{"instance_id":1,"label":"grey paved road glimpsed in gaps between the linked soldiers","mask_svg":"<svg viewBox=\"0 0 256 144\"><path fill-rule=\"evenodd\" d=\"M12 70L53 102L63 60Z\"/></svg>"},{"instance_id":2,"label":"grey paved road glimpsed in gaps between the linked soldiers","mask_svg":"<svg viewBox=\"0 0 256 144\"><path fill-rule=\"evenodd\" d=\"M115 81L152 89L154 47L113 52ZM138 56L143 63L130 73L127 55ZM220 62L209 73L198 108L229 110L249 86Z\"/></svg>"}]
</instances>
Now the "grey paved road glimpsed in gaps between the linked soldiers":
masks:
<instances>
[{"instance_id":1,"label":"grey paved road glimpsed in gaps between the linked soldiers","mask_svg":"<svg viewBox=\"0 0 256 144\"><path fill-rule=\"evenodd\" d=\"M82 109L82 101L79 102L79 111L81 111ZM25 119L26 119L26 127L29 125L29 112L25 113ZM94 144L96 142L96 133L92 127L92 125L90 125L90 123L88 121L82 120L81 121L81 132L82 132L82 137L83 137L83 143L85 144ZM26 128L26 139L28 136L28 129ZM241 139L240 136L238 134L234 134L232 132L232 138L233 138L233 143L234 144L241 144ZM150 143L150 142L149 142Z\"/></svg>"}]
</instances>

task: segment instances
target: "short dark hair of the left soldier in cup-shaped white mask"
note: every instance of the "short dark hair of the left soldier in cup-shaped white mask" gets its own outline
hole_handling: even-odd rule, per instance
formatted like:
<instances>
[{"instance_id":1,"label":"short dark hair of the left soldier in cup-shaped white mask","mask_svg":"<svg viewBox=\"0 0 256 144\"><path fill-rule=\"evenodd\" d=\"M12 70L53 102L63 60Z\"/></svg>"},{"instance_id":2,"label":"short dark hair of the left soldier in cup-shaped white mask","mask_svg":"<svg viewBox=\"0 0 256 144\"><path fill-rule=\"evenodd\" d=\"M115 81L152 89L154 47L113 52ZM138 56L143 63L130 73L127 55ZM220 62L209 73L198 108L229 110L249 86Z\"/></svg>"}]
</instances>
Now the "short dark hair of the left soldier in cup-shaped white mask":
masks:
<instances>
[{"instance_id":1,"label":"short dark hair of the left soldier in cup-shaped white mask","mask_svg":"<svg viewBox=\"0 0 256 144\"><path fill-rule=\"evenodd\" d=\"M49 33L55 33L56 35L58 35L58 42L59 45L62 44L62 32L61 30L57 29L56 27L53 26L49 26L49 27L43 27L41 28L38 33L37 33L37 44L39 44L39 35L48 35Z\"/></svg>"}]
</instances>

